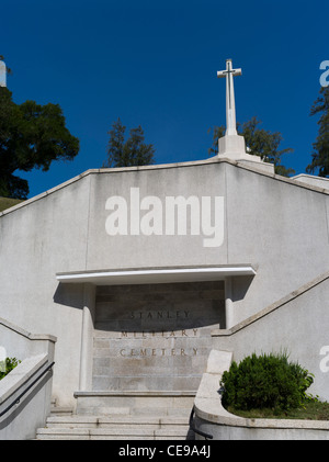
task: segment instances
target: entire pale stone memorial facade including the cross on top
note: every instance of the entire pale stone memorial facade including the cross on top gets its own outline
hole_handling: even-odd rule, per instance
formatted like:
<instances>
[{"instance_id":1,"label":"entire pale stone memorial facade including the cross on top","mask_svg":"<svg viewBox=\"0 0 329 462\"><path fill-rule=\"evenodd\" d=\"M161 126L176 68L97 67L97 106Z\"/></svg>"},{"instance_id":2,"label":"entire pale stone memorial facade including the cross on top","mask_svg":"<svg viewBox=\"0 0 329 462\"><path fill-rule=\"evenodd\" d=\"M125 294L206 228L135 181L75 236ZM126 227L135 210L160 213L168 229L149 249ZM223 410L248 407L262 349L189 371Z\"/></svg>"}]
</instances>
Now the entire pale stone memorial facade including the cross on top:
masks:
<instances>
[{"instance_id":1,"label":"entire pale stone memorial facade including the cross on top","mask_svg":"<svg viewBox=\"0 0 329 462\"><path fill-rule=\"evenodd\" d=\"M60 405L193 394L216 348L287 350L329 399L329 180L250 156L227 81L218 156L88 170L0 213L0 316L57 338Z\"/></svg>"}]
</instances>

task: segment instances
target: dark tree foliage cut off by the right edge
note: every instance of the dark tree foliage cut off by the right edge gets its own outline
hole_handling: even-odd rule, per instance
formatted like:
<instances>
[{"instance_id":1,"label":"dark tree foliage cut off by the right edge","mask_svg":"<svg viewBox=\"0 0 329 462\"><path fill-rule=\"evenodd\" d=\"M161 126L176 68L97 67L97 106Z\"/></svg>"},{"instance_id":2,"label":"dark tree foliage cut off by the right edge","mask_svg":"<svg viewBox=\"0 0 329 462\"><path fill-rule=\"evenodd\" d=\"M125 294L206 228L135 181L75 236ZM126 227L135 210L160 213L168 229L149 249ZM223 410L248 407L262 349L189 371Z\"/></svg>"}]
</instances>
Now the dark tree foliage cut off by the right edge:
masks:
<instances>
[{"instance_id":1,"label":"dark tree foliage cut off by the right edge","mask_svg":"<svg viewBox=\"0 0 329 462\"><path fill-rule=\"evenodd\" d=\"M306 172L317 171L319 177L329 177L329 87L321 88L320 97L310 110L310 115L315 114L321 114L318 121L319 134L313 145L313 160L306 167Z\"/></svg>"}]
</instances>

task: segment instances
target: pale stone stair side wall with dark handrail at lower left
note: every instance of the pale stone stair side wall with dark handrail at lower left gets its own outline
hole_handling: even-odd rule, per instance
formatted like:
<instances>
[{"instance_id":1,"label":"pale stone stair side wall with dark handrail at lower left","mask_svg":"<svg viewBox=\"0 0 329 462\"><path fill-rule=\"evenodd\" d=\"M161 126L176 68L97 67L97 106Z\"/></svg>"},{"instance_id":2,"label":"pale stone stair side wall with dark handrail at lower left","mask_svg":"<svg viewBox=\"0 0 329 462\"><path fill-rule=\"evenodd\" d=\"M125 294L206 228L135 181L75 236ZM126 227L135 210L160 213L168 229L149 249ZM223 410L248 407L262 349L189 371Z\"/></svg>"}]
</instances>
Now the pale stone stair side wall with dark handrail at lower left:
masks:
<instances>
[{"instance_id":1,"label":"pale stone stair side wall with dark handrail at lower left","mask_svg":"<svg viewBox=\"0 0 329 462\"><path fill-rule=\"evenodd\" d=\"M0 341L2 353L21 361L0 381L0 440L33 439L50 412L56 337L0 318Z\"/></svg>"}]
</instances>

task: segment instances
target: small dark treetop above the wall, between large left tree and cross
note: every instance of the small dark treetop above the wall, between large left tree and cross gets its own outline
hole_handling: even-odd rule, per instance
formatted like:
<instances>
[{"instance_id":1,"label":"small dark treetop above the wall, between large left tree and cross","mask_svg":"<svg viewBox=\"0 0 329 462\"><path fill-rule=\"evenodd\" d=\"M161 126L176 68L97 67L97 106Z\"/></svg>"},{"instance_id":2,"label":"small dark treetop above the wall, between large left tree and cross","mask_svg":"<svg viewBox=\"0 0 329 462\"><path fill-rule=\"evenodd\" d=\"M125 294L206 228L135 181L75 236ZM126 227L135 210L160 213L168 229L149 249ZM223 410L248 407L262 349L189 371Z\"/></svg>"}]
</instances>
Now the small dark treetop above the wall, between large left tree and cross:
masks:
<instances>
[{"instance_id":1,"label":"small dark treetop above the wall, between large left tree and cross","mask_svg":"<svg viewBox=\"0 0 329 462\"><path fill-rule=\"evenodd\" d=\"M154 164L155 148L144 143L141 126L132 128L127 140L125 140L125 129L120 119L112 124L112 129L107 132L110 135L107 160L103 167L136 167Z\"/></svg>"}]
</instances>

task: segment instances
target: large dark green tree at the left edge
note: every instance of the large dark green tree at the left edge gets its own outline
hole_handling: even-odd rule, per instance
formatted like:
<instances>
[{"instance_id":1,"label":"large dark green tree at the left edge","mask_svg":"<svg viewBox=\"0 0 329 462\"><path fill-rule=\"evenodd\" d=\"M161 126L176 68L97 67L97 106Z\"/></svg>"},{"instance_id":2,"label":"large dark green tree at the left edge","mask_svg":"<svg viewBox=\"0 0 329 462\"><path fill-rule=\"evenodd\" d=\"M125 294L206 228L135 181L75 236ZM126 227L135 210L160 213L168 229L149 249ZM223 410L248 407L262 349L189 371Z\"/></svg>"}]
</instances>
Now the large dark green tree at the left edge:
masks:
<instances>
[{"instance_id":1,"label":"large dark green tree at the left edge","mask_svg":"<svg viewBox=\"0 0 329 462\"><path fill-rule=\"evenodd\" d=\"M66 128L58 104L15 104L11 91L0 87L0 195L26 199L27 181L16 170L47 171L53 160L71 160L78 151L79 139Z\"/></svg>"}]
</instances>

